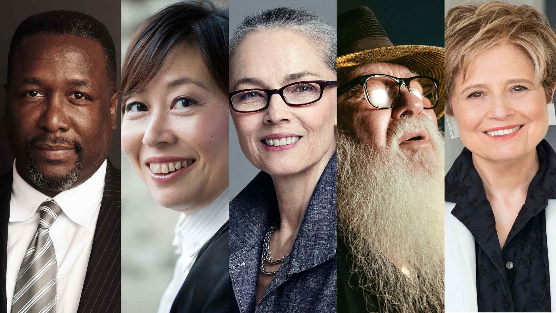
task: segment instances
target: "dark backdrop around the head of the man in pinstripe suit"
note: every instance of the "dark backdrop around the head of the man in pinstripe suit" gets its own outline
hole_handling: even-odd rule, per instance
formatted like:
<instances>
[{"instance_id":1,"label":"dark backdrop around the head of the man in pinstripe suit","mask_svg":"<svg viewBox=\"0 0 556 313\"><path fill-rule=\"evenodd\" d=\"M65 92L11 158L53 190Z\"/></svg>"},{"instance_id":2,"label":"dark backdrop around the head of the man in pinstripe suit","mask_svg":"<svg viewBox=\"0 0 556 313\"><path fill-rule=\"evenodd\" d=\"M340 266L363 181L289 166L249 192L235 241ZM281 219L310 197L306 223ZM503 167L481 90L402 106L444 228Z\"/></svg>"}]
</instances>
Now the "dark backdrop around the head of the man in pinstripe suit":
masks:
<instances>
[{"instance_id":1,"label":"dark backdrop around the head of the man in pinstripe suit","mask_svg":"<svg viewBox=\"0 0 556 313\"><path fill-rule=\"evenodd\" d=\"M0 9L0 85L6 84L9 42L19 23L27 17L44 11L66 9L89 14L101 21L110 33L116 45L116 87L120 88L120 1L95 0L9 0L2 2ZM0 88L0 174L12 168L13 154L9 148L4 125L4 106L6 93ZM118 105L118 125L120 125L120 109ZM112 133L112 146L108 154L113 165L120 168L120 128Z\"/></svg>"}]
</instances>

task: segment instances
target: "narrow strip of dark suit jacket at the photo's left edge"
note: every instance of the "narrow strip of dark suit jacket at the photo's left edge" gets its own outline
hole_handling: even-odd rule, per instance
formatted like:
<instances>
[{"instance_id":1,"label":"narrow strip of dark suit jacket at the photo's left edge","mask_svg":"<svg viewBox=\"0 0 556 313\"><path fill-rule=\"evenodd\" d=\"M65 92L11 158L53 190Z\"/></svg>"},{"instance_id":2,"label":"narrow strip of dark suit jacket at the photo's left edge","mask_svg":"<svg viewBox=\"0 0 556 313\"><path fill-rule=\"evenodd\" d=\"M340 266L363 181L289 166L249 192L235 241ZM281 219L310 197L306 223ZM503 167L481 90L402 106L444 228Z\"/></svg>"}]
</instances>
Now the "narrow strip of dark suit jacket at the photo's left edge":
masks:
<instances>
[{"instance_id":1,"label":"narrow strip of dark suit jacket at the photo's left edge","mask_svg":"<svg viewBox=\"0 0 556 313\"><path fill-rule=\"evenodd\" d=\"M12 197L12 171L0 176L0 313L7 313L6 261L8 256L9 202Z\"/></svg>"}]
</instances>

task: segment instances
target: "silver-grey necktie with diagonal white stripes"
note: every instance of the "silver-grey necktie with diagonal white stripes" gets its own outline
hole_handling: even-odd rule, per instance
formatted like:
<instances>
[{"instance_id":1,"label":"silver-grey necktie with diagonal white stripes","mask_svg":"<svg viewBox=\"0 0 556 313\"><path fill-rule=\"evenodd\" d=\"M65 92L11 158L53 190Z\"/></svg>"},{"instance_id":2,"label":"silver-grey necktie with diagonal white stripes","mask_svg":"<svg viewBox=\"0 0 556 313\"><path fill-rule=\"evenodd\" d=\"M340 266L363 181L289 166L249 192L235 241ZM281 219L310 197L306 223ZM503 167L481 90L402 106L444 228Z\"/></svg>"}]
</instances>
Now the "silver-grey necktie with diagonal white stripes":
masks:
<instances>
[{"instance_id":1,"label":"silver-grey necktie with diagonal white stripes","mask_svg":"<svg viewBox=\"0 0 556 313\"><path fill-rule=\"evenodd\" d=\"M58 266L50 226L62 213L54 200L38 208L40 218L37 232L21 262L12 300L12 313L56 312Z\"/></svg>"}]
</instances>

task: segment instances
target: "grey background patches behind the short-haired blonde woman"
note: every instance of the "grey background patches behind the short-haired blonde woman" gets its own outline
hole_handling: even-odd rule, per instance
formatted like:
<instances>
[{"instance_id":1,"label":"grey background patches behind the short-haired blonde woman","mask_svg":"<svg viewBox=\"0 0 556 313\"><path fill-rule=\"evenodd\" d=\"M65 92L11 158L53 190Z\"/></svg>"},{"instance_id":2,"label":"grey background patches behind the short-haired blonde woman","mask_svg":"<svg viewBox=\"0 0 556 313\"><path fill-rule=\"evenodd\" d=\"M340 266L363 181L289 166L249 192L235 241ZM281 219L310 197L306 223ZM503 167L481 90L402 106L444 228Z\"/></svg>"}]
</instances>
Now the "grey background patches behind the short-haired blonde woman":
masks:
<instances>
[{"instance_id":1,"label":"grey background patches behind the short-haired blonde woman","mask_svg":"<svg viewBox=\"0 0 556 313\"><path fill-rule=\"evenodd\" d=\"M444 16L448 13L450 8L455 7L461 2L468 2L463 0L445 0L444 2ZM534 7L539 12L543 12L547 14L548 20L550 21L550 26L552 28L556 28L556 1L554 0L506 0L508 3L512 4L528 4L529 6ZM446 123L447 124L447 123ZM446 125L445 130L445 156L444 156L444 174L448 173L451 168L451 165L454 163L455 159L461 153L464 145L461 143L459 138L451 139L450 131L448 130L448 126ZM547 135L544 136L550 145L556 147L556 125L548 126Z\"/></svg>"}]
</instances>

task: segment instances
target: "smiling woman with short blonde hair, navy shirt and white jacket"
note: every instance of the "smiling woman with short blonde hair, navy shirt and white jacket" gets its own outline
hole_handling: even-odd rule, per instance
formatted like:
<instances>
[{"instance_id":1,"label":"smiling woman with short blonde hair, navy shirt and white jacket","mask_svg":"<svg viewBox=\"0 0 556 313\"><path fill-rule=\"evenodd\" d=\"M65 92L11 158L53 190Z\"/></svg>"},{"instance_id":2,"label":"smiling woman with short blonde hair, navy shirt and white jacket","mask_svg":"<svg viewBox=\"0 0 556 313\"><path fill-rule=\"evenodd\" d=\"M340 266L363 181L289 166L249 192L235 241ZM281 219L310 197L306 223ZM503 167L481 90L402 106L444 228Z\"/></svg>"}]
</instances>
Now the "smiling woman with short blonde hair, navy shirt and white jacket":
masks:
<instances>
[{"instance_id":1,"label":"smiling woman with short blonde hair, navy shirt and white jacket","mask_svg":"<svg viewBox=\"0 0 556 313\"><path fill-rule=\"evenodd\" d=\"M445 30L446 113L465 145L445 177L446 311L551 311L556 35L498 1L450 9Z\"/></svg>"}]
</instances>

